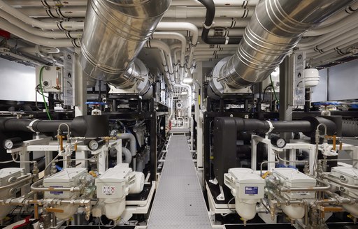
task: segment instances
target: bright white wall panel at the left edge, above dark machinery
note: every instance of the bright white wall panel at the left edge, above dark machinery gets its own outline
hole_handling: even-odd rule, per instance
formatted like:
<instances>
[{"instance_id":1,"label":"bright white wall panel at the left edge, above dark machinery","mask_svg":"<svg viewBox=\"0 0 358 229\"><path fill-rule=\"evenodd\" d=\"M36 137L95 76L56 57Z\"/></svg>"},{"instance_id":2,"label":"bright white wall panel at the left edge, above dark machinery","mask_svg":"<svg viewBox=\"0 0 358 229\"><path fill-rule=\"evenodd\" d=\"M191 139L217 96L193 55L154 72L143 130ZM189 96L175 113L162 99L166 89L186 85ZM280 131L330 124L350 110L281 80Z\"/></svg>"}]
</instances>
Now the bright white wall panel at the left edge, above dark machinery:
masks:
<instances>
[{"instance_id":1,"label":"bright white wall panel at the left edge, above dark machinery","mask_svg":"<svg viewBox=\"0 0 358 229\"><path fill-rule=\"evenodd\" d=\"M35 101L35 87L35 68L0 58L0 100Z\"/></svg>"}]
</instances>

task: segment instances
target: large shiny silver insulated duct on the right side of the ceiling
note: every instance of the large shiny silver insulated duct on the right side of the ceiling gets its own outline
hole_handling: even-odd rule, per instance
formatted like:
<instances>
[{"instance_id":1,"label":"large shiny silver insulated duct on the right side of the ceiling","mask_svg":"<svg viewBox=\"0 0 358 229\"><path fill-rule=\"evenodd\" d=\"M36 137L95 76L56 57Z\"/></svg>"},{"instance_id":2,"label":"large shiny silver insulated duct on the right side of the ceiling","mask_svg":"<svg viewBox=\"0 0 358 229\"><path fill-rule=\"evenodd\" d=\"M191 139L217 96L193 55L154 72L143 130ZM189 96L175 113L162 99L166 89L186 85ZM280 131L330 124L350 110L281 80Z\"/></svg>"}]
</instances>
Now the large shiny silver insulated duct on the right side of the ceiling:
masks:
<instances>
[{"instance_id":1,"label":"large shiny silver insulated duct on the right side of the ceiling","mask_svg":"<svg viewBox=\"0 0 358 229\"><path fill-rule=\"evenodd\" d=\"M262 82L278 66L303 34L352 0L262 0L245 29L234 56L213 69L217 80L240 89ZM221 83L220 82L220 83Z\"/></svg>"}]
</instances>

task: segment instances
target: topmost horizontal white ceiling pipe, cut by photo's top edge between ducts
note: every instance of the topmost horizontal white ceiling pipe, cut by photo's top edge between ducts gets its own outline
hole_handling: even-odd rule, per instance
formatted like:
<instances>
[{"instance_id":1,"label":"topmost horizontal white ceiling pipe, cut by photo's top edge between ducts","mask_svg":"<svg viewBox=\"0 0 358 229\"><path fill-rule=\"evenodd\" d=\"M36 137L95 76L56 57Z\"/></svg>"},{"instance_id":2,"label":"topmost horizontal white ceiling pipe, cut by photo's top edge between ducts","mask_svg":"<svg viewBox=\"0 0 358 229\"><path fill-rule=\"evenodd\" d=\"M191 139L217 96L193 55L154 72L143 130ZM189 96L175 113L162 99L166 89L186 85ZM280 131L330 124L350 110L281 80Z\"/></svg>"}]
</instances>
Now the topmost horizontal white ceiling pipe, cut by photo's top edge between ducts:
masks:
<instances>
[{"instance_id":1,"label":"topmost horizontal white ceiling pipe, cut by photo's top edge between ducts","mask_svg":"<svg viewBox=\"0 0 358 229\"><path fill-rule=\"evenodd\" d=\"M246 7L252 8L259 3L259 0L214 0L216 7ZM203 6L196 0L175 0L171 2L171 6Z\"/></svg>"}]
</instances>

